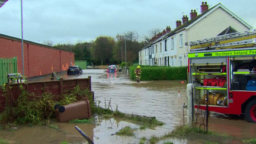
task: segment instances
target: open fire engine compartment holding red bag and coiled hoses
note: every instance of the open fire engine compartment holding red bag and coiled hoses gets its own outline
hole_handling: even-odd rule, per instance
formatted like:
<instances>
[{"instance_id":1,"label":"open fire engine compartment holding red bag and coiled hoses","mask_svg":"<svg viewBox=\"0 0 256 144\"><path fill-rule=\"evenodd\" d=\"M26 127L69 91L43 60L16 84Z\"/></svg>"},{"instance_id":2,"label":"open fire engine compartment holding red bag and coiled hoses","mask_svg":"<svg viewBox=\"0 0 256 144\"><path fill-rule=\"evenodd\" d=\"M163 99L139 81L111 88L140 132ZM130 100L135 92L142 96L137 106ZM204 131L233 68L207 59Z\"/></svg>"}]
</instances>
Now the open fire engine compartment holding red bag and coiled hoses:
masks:
<instances>
[{"instance_id":1,"label":"open fire engine compartment holding red bag and coiled hoses","mask_svg":"<svg viewBox=\"0 0 256 144\"><path fill-rule=\"evenodd\" d=\"M195 57L190 59L190 83L195 85L194 102L209 107L227 107L227 57Z\"/></svg>"}]
</instances>

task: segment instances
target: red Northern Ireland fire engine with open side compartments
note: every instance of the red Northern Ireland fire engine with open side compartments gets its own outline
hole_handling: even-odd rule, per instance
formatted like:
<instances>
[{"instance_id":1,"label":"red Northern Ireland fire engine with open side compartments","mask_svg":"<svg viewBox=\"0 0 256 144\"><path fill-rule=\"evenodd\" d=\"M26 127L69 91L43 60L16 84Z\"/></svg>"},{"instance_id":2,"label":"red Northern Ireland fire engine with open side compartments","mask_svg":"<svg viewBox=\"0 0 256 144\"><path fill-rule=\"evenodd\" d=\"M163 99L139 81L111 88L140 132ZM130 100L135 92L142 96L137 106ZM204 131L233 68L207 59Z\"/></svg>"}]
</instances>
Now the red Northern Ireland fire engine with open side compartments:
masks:
<instances>
[{"instance_id":1,"label":"red Northern Ireland fire engine with open side compartments","mask_svg":"<svg viewBox=\"0 0 256 144\"><path fill-rule=\"evenodd\" d=\"M256 31L190 41L188 84L195 108L244 114L256 123Z\"/></svg>"}]
</instances>

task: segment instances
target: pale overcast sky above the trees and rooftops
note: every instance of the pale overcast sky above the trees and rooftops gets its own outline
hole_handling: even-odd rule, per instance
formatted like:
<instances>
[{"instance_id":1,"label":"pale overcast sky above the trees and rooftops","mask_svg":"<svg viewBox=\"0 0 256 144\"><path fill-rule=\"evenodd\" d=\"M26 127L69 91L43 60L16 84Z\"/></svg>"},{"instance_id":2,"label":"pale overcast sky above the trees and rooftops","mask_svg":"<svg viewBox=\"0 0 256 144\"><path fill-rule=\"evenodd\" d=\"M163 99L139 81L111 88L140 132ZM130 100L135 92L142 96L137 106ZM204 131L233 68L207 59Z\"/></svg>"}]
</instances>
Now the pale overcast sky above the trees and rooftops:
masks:
<instances>
[{"instance_id":1,"label":"pale overcast sky above the trees and rooftops","mask_svg":"<svg viewBox=\"0 0 256 144\"><path fill-rule=\"evenodd\" d=\"M155 28L174 30L183 15L190 17L191 9L199 15L201 2L209 8L221 3L256 28L255 0L23 0L23 39L75 44L134 31L143 40ZM21 39L21 0L9 0L0 8L0 34Z\"/></svg>"}]
</instances>

